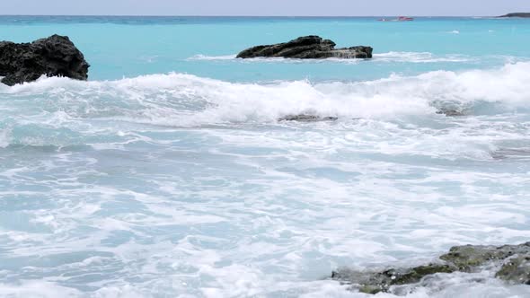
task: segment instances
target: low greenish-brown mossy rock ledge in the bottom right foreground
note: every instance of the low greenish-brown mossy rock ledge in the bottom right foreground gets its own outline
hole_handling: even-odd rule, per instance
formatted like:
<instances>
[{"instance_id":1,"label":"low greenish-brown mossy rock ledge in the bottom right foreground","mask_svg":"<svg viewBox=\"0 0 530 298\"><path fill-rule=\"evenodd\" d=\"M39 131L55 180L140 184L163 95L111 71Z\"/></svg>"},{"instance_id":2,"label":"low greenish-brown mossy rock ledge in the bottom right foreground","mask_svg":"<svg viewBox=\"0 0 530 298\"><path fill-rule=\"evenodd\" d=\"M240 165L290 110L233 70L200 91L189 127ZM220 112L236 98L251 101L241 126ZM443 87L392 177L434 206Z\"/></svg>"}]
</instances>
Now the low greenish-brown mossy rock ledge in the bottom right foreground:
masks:
<instances>
[{"instance_id":1,"label":"low greenish-brown mossy rock ledge in the bottom right foreground","mask_svg":"<svg viewBox=\"0 0 530 298\"><path fill-rule=\"evenodd\" d=\"M438 262L411 268L389 268L383 271L341 269L331 278L353 285L359 292L377 294L392 292L399 285L420 283L427 276L453 272L473 273L483 267L496 268L495 277L510 284L530 285L530 242L520 245L457 246L442 255Z\"/></svg>"}]
</instances>

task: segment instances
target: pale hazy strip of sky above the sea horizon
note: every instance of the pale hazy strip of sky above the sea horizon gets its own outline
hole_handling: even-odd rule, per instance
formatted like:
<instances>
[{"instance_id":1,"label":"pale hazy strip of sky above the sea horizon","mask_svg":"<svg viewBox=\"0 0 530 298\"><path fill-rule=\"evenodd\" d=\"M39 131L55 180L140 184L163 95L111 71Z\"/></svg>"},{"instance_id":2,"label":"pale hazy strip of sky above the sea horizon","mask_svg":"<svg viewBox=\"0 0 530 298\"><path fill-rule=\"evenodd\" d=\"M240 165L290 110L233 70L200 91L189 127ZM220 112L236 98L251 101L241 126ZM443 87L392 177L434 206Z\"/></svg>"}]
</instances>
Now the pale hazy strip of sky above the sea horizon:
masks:
<instances>
[{"instance_id":1,"label":"pale hazy strip of sky above the sea horizon","mask_svg":"<svg viewBox=\"0 0 530 298\"><path fill-rule=\"evenodd\" d=\"M15 0L0 14L496 16L530 12L530 0Z\"/></svg>"}]
</instances>

